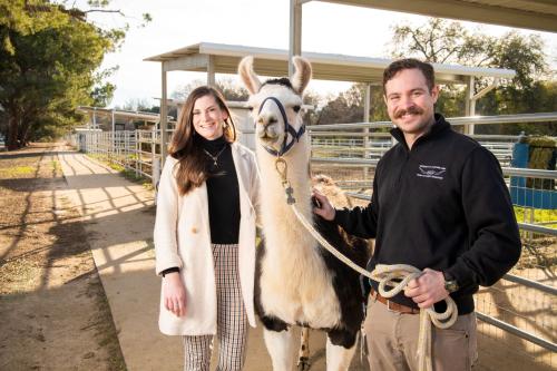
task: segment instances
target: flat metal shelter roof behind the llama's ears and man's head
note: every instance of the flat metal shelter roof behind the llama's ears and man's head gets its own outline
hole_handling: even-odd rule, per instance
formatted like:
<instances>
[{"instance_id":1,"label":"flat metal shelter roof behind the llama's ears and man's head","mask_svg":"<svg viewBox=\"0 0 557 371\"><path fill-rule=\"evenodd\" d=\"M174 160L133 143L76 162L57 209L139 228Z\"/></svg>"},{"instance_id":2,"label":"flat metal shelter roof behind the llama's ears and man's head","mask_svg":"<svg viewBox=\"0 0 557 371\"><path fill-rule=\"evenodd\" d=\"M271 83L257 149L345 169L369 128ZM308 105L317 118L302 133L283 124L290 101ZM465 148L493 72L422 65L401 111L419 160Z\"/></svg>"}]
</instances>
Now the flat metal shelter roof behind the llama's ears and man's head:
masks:
<instances>
[{"instance_id":1,"label":"flat metal shelter roof behind the llama's ears and man's head","mask_svg":"<svg viewBox=\"0 0 557 371\"><path fill-rule=\"evenodd\" d=\"M353 82L380 82L383 70L392 59L355 57L320 52L302 52L313 67L313 78ZM254 48L237 45L201 42L149 57L146 61L165 62L166 70L206 71L209 58L216 74L236 74L240 60L254 56L254 68L263 76L287 76L289 51L285 49ZM465 67L433 64L438 82L467 81L467 77L512 78L509 69Z\"/></svg>"}]
</instances>

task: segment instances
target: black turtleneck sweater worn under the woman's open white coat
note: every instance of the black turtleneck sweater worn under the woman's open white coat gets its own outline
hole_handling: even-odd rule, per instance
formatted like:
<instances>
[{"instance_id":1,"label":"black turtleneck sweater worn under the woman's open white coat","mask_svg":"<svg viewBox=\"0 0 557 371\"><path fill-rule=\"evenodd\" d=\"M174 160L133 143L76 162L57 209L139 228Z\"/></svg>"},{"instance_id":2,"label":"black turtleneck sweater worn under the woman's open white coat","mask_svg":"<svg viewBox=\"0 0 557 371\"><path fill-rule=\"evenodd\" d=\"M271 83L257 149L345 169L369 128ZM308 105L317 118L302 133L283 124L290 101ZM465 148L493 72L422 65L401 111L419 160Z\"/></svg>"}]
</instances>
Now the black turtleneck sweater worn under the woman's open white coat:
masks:
<instances>
[{"instance_id":1,"label":"black turtleneck sweater worn under the woman's open white coat","mask_svg":"<svg viewBox=\"0 0 557 371\"><path fill-rule=\"evenodd\" d=\"M208 214L211 242L214 244L237 244L240 234L240 191L232 148L224 136L207 140L196 136L207 159ZM214 159L207 155L216 157Z\"/></svg>"}]
</instances>

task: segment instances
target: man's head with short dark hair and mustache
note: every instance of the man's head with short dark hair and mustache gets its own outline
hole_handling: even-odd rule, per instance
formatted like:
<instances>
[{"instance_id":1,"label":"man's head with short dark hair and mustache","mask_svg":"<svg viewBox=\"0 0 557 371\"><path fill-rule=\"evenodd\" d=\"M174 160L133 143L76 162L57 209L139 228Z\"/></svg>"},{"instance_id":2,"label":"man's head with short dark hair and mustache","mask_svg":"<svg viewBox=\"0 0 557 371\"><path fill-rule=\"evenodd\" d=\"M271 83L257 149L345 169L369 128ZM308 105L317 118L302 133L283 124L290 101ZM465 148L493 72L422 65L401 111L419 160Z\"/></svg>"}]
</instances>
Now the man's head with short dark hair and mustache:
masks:
<instances>
[{"instance_id":1,"label":"man's head with short dark hair and mustache","mask_svg":"<svg viewBox=\"0 0 557 371\"><path fill-rule=\"evenodd\" d=\"M389 117L404 134L419 136L429 130L438 96L439 88L429 91L426 77L417 68L403 69L385 84Z\"/></svg>"}]
</instances>

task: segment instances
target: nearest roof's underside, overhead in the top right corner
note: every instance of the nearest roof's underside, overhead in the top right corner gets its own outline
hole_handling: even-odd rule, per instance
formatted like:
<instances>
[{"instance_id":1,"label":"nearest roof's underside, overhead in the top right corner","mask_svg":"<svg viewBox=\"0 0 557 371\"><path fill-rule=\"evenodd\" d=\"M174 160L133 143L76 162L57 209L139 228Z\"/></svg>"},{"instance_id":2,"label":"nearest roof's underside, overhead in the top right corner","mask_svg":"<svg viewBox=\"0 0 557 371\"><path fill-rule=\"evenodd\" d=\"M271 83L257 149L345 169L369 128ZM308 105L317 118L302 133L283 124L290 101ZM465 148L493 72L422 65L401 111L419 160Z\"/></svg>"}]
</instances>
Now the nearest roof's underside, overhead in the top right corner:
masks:
<instances>
[{"instance_id":1,"label":"nearest roof's underside, overhead in the top right corner","mask_svg":"<svg viewBox=\"0 0 557 371\"><path fill-rule=\"evenodd\" d=\"M556 0L314 0L557 32Z\"/></svg>"}]
</instances>

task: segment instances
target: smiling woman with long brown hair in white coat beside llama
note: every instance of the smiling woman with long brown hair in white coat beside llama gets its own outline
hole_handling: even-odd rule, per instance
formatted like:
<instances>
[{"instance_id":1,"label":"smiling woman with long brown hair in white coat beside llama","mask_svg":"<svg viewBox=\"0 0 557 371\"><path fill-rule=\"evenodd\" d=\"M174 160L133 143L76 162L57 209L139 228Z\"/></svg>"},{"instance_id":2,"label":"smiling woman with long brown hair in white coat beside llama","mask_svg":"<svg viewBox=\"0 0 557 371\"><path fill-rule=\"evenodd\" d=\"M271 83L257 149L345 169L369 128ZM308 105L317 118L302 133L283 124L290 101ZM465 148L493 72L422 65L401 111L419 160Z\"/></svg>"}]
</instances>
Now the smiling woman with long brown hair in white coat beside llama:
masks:
<instances>
[{"instance_id":1,"label":"smiling woman with long brown hair in white coat beside llama","mask_svg":"<svg viewBox=\"0 0 557 371\"><path fill-rule=\"evenodd\" d=\"M254 154L235 141L221 92L189 94L160 175L155 222L163 276L159 329L182 335L185 370L208 370L213 335L218 370L241 370L247 323L255 326Z\"/></svg>"}]
</instances>

